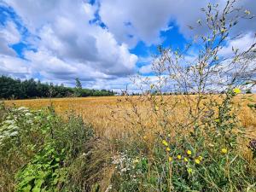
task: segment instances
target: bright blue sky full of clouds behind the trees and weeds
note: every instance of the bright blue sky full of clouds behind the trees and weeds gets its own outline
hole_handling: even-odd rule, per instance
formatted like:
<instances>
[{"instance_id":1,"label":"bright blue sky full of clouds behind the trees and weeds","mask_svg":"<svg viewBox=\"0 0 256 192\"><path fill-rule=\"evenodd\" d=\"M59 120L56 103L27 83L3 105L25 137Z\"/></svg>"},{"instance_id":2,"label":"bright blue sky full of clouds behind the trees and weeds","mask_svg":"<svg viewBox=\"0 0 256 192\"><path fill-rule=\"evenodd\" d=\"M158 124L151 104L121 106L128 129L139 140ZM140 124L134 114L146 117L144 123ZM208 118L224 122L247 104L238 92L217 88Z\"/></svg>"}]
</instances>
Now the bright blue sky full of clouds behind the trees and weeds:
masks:
<instances>
[{"instance_id":1,"label":"bright blue sky full of clouds behind the trees and weeds","mask_svg":"<svg viewBox=\"0 0 256 192\"><path fill-rule=\"evenodd\" d=\"M256 13L255 0L238 6ZM213 0L224 6L224 0ZM151 74L157 46L183 48L207 1L198 0L0 0L0 75L90 89L121 90L136 73ZM247 48L256 20L242 21Z\"/></svg>"}]
</instances>

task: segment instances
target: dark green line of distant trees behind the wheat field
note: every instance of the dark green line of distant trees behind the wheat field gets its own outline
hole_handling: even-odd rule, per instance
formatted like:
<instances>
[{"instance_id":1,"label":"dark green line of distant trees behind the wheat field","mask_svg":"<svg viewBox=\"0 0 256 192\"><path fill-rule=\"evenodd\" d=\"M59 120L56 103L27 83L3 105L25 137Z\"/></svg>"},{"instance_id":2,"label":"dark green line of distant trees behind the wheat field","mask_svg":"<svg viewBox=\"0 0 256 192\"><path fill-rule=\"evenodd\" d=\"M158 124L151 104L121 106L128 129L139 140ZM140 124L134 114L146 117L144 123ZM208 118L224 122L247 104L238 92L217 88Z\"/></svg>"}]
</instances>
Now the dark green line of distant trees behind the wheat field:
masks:
<instances>
[{"instance_id":1,"label":"dark green line of distant trees behind the wheat field","mask_svg":"<svg viewBox=\"0 0 256 192\"><path fill-rule=\"evenodd\" d=\"M28 98L61 98L69 96L113 96L113 90L83 89L79 79L76 87L66 87L63 84L44 84L34 79L21 81L6 76L0 76L0 99Z\"/></svg>"}]
</instances>

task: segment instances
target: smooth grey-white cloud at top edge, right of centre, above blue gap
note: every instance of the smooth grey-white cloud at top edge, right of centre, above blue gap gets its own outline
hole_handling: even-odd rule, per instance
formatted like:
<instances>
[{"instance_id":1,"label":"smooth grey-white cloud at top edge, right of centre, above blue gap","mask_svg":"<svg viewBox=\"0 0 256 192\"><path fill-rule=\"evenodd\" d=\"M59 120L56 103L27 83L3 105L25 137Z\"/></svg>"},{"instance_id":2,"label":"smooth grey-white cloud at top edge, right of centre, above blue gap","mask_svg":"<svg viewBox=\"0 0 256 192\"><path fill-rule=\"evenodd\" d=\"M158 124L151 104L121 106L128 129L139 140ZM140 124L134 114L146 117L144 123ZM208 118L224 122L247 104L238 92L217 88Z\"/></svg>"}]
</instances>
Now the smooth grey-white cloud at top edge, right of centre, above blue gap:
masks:
<instances>
[{"instance_id":1,"label":"smooth grey-white cloud at top edge, right of centre, above blue gap","mask_svg":"<svg viewBox=\"0 0 256 192\"><path fill-rule=\"evenodd\" d=\"M207 1L195 0L100 0L101 7L99 14L102 21L108 26L110 32L121 41L134 46L137 41L142 40L147 44L159 44L160 31L168 29L170 22L175 22L179 31L187 38L195 32L205 29L188 30L188 26L195 26L196 20L205 16L201 8L207 7ZM218 3L223 8L226 1L214 0L211 3ZM249 9L256 13L256 4L250 0L238 1L237 7ZM256 19L243 20L236 27L236 32L248 32L256 29L250 23ZM172 27L169 28L172 30Z\"/></svg>"}]
</instances>

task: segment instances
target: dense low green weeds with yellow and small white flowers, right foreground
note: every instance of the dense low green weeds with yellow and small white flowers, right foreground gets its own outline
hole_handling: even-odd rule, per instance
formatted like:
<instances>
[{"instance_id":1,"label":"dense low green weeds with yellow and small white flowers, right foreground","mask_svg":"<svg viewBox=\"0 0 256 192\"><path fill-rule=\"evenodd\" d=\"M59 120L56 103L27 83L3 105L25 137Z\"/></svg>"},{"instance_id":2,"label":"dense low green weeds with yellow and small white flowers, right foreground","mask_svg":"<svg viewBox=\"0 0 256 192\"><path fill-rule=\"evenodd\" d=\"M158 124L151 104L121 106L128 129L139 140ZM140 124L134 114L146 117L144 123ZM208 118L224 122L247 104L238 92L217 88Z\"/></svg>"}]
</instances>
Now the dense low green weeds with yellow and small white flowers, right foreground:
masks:
<instances>
[{"instance_id":1,"label":"dense low green weeds with yellow and small white flowers, right foreground","mask_svg":"<svg viewBox=\"0 0 256 192\"><path fill-rule=\"evenodd\" d=\"M113 160L116 172L113 188L117 191L254 191L256 164L243 155L242 133L232 113L227 92L218 105L218 113L191 130L158 133L153 148L147 139L136 144L127 141L121 154ZM129 144L130 143L130 144ZM243 141L244 143L244 141ZM249 146L255 150L254 140ZM253 152L255 153L255 152Z\"/></svg>"}]
</instances>

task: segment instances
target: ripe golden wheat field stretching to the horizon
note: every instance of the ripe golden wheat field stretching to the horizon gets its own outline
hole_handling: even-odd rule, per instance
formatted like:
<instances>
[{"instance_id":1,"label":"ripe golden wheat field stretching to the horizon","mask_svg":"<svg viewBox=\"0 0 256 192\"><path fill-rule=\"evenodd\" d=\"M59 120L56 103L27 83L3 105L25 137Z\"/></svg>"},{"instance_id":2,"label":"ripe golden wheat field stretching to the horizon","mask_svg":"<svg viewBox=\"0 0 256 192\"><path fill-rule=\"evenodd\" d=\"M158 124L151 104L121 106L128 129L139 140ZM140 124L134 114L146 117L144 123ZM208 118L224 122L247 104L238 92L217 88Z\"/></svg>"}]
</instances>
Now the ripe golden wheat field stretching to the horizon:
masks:
<instances>
[{"instance_id":1,"label":"ripe golden wheat field stretching to the horizon","mask_svg":"<svg viewBox=\"0 0 256 192\"><path fill-rule=\"evenodd\" d=\"M172 96L171 96L172 100ZM122 102L120 102L122 101ZM113 111L125 113L125 110L131 109L125 101L125 96L99 96L99 97L84 97L84 98L56 98L56 99L32 99L32 100L14 100L5 101L9 106L16 105L18 107L25 106L32 109L46 108L51 104L55 108L55 112L59 114L76 113L83 117L84 121L93 125L97 134L108 137L119 137L125 131L131 129L132 123L120 116L113 115ZM256 137L256 113L247 107L248 103L254 103L256 95L241 95L236 96L235 103L240 105L238 110L241 124L246 127L247 135ZM148 127L155 127L154 119L149 119L147 104L136 101L137 106L141 108L142 119ZM185 118L182 113L182 106L177 109L177 118ZM130 117L131 119L131 117ZM134 119L136 121L136 119ZM178 119L176 119L178 120ZM147 121L147 122L146 122Z\"/></svg>"}]
</instances>

